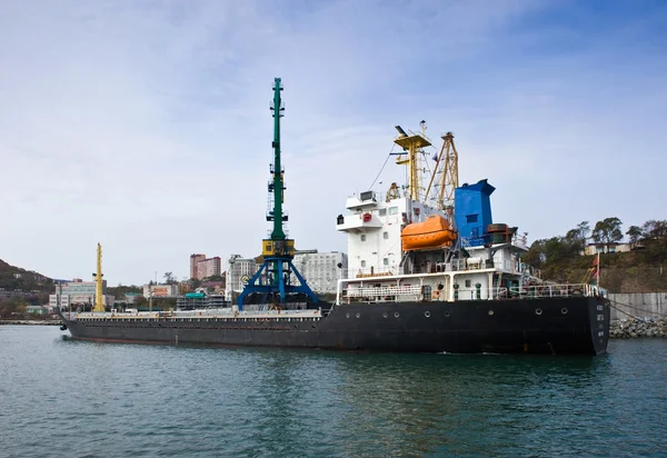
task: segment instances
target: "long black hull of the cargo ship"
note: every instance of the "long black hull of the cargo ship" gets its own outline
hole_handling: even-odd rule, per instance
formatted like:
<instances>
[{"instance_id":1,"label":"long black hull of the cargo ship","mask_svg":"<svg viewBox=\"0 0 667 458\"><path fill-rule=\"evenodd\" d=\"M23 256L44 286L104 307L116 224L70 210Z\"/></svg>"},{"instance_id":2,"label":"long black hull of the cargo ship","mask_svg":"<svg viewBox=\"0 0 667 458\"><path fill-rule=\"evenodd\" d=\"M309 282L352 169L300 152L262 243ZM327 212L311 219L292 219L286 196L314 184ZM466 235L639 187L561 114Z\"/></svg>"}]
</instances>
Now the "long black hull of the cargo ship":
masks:
<instances>
[{"instance_id":1,"label":"long black hull of the cargo ship","mask_svg":"<svg viewBox=\"0 0 667 458\"><path fill-rule=\"evenodd\" d=\"M600 355L609 307L595 297L352 303L321 319L67 320L73 339L340 350Z\"/></svg>"}]
</instances>

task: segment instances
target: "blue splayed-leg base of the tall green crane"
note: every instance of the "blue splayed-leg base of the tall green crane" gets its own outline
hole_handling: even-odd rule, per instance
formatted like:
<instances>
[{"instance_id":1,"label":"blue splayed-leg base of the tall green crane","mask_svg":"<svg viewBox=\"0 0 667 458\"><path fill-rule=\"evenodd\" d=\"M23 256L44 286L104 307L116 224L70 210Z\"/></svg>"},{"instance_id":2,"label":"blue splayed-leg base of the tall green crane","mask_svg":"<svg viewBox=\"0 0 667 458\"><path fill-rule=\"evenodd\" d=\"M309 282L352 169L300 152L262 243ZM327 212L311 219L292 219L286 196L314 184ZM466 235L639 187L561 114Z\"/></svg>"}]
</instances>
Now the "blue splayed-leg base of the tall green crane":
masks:
<instances>
[{"instance_id":1,"label":"blue splayed-leg base of the tall green crane","mask_svg":"<svg viewBox=\"0 0 667 458\"><path fill-rule=\"evenodd\" d=\"M251 293L263 295L266 298L277 298L279 296L280 303L286 303L288 297L300 293L309 297L312 302L317 302L317 296L292 265L291 259L282 257L265 258L263 263L248 280L243 291L237 299L239 310L243 310L243 302ZM297 277L299 285L291 285L290 273Z\"/></svg>"}]
</instances>

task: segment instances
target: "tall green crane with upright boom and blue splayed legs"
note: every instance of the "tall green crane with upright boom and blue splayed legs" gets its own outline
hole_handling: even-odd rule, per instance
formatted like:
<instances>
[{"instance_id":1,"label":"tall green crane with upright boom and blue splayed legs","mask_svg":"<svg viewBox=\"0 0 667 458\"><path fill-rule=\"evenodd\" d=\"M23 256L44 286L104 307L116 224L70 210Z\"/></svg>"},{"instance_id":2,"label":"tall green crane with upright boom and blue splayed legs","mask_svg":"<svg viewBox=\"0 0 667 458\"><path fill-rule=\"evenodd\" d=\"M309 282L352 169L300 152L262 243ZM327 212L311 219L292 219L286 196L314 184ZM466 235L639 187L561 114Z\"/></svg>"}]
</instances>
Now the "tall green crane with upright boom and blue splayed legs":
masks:
<instances>
[{"instance_id":1,"label":"tall green crane with upright boom and blue splayed legs","mask_svg":"<svg viewBox=\"0 0 667 458\"><path fill-rule=\"evenodd\" d=\"M251 295L258 296L260 303L271 303L276 308L282 308L282 305L288 302L288 297L295 296L306 296L312 302L318 301L317 296L292 265L295 240L288 239L282 228L282 223L287 221L287 215L282 211L285 169L280 163L280 118L283 117L285 106L280 99L280 91L282 91L282 83L280 78L276 78L273 101L270 107L273 112L273 141L271 143L273 163L269 168L272 179L268 185L269 211L267 212L267 221L273 222L273 230L270 238L262 240L262 265L248 280L237 299L239 310L243 309L247 301L255 299L251 298ZM298 285L292 283L292 275L297 278Z\"/></svg>"}]
</instances>

